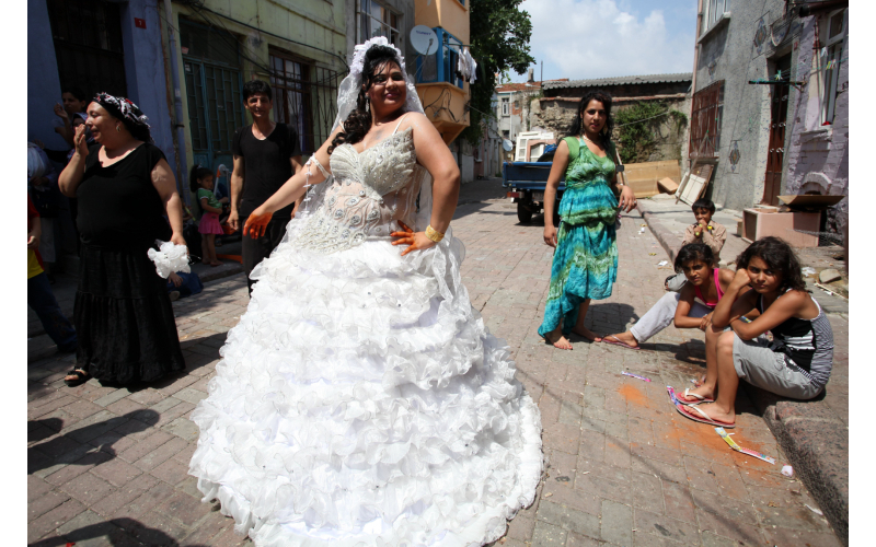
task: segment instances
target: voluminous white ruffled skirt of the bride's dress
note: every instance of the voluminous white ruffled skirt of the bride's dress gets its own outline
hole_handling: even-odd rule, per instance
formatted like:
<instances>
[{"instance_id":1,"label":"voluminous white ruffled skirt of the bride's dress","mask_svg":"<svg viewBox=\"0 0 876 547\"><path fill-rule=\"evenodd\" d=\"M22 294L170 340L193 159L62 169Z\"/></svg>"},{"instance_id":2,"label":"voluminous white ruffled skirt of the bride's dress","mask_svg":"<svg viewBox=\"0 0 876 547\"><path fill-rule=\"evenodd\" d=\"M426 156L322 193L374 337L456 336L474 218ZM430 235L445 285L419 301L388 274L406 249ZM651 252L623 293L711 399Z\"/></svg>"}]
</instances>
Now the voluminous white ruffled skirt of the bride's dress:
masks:
<instances>
[{"instance_id":1,"label":"voluminous white ruffled skirt of the bride's dress","mask_svg":"<svg viewBox=\"0 0 876 547\"><path fill-rule=\"evenodd\" d=\"M258 546L475 546L532 502L541 419L489 335L448 235L255 268L189 474Z\"/></svg>"}]
</instances>

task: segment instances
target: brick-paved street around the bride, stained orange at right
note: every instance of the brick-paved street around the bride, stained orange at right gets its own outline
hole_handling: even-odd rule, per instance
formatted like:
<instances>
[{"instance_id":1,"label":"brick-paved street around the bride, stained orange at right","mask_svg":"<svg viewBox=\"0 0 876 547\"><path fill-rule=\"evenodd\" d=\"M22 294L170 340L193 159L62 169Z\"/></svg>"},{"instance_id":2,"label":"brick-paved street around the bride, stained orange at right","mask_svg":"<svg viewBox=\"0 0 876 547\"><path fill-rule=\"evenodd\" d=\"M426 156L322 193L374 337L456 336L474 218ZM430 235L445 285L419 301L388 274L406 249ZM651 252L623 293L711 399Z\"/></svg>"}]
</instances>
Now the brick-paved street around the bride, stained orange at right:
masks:
<instances>
[{"instance_id":1,"label":"brick-paved street around the bride, stained orange at right","mask_svg":"<svg viewBox=\"0 0 876 547\"><path fill-rule=\"evenodd\" d=\"M745 391L733 439L775 465L731 451L669 403L667 385L683 391L704 371L703 333L670 326L641 351L575 337L572 351L543 342L552 249L540 218L521 225L516 206L488 199L502 195L495 181L463 186L451 226L466 247L472 304L510 345L517 377L539 403L549 466L534 503L497 545L842 545L797 475L781 475L787 458ZM643 225L636 211L622 218L614 293L588 315L600 335L629 328L664 294L671 266L658 266L666 252ZM45 335L28 342L28 544L252 545L217 505L200 502L186 475L198 435L188 416L247 302L241 275L175 302L187 369L150 386L92 380L69 388L73 356L56 353ZM846 375L848 318L829 317L834 373ZM848 420L848 387L832 386L826 404Z\"/></svg>"}]
</instances>

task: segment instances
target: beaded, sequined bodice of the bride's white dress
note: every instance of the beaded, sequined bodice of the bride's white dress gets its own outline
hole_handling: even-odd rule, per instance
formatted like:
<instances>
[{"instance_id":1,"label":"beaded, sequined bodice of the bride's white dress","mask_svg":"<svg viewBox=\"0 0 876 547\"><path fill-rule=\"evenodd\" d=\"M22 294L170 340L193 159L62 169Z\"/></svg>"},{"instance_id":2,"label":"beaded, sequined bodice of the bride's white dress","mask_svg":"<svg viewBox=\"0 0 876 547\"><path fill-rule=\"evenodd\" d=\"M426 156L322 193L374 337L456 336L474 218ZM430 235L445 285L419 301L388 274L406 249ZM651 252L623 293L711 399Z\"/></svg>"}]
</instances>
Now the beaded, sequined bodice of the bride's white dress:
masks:
<instances>
[{"instance_id":1,"label":"beaded, sequined bodice of the bride's white dress","mask_svg":"<svg viewBox=\"0 0 876 547\"><path fill-rule=\"evenodd\" d=\"M334 253L366 238L389 237L401 229L399 220L413 228L419 194L413 128L362 152L341 144L330 161L332 186L300 232L300 246Z\"/></svg>"}]
</instances>

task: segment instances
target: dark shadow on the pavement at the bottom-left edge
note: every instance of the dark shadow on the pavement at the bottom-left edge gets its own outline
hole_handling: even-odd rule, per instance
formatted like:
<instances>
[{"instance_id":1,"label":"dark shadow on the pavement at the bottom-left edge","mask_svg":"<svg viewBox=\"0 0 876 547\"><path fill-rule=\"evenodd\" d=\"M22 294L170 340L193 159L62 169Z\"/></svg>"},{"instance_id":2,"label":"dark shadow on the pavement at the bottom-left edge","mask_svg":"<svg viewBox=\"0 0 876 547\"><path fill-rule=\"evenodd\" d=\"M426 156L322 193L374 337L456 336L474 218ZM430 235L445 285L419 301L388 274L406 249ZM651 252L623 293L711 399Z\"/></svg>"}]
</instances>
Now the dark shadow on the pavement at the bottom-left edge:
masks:
<instances>
[{"instance_id":1,"label":"dark shadow on the pavement at the bottom-left edge","mask_svg":"<svg viewBox=\"0 0 876 547\"><path fill-rule=\"evenodd\" d=\"M217 531L218 532L218 531ZM88 539L105 537L113 547L134 547L142 545L161 545L177 547L181 544L164 532L150 528L134 519L113 519L96 524L82 526L62 536L47 537L39 542L28 544L30 547L57 547L71 543L84 543ZM101 543L101 545L106 545ZM206 544L185 543L186 547L208 547Z\"/></svg>"}]
</instances>

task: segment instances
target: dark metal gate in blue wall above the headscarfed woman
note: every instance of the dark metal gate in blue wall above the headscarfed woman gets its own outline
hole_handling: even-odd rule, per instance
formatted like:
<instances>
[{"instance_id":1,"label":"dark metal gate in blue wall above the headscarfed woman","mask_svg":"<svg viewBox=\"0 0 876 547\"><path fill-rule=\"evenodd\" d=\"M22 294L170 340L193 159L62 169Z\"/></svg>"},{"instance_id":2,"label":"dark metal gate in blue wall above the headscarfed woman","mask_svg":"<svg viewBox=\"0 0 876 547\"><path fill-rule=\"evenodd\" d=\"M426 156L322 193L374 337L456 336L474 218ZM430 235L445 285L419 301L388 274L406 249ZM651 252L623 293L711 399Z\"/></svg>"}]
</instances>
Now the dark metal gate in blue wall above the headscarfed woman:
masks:
<instances>
[{"instance_id":1,"label":"dark metal gate in blue wall above the headscarfed woman","mask_svg":"<svg viewBox=\"0 0 876 547\"><path fill-rule=\"evenodd\" d=\"M48 0L47 8L61 88L127 96L118 4Z\"/></svg>"}]
</instances>

